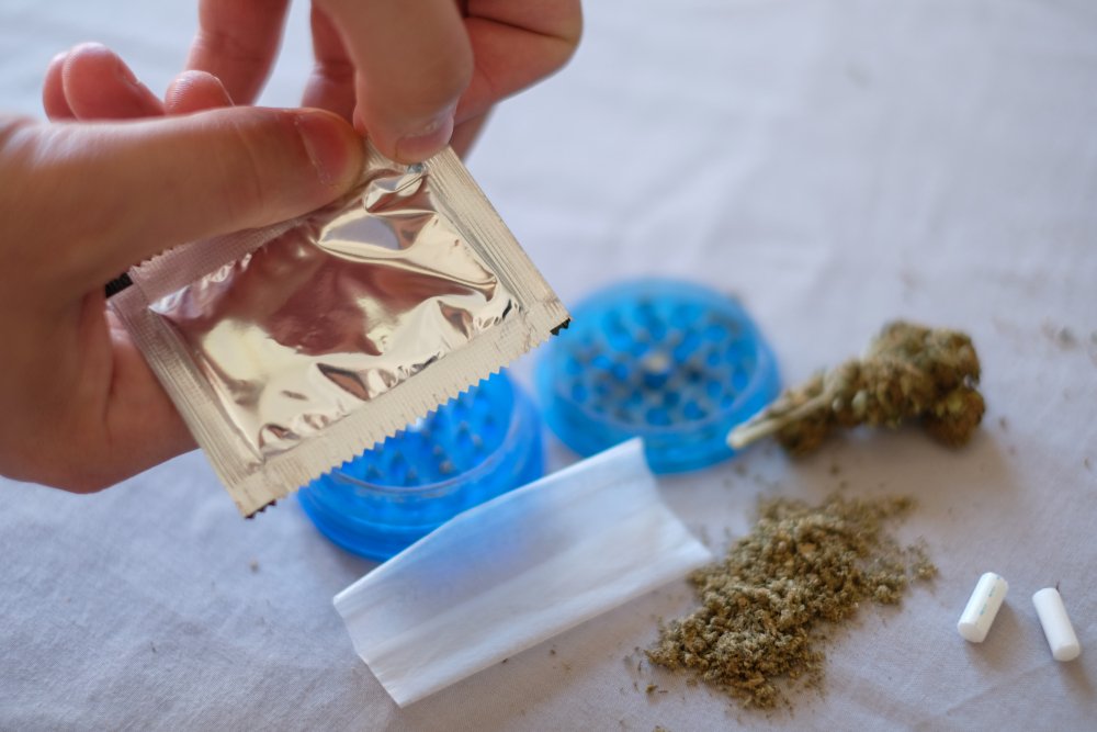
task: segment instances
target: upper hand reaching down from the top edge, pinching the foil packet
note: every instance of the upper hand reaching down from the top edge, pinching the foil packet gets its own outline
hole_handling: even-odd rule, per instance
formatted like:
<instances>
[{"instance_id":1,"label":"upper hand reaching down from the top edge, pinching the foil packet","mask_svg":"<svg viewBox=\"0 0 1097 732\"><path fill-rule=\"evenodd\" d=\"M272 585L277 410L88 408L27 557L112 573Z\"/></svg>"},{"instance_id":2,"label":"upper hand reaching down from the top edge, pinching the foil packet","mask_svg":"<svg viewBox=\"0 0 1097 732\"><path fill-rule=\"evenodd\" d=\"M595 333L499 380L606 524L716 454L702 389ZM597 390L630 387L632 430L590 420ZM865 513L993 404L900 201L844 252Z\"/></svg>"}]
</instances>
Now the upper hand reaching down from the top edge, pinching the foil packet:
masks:
<instances>
[{"instance_id":1,"label":"upper hand reaching down from the top edge, pinching the foil packet","mask_svg":"<svg viewBox=\"0 0 1097 732\"><path fill-rule=\"evenodd\" d=\"M188 67L238 104L259 94L289 0L202 0ZM562 67L579 0L314 0L306 106L330 110L403 162L472 144L495 102Z\"/></svg>"}]
</instances>

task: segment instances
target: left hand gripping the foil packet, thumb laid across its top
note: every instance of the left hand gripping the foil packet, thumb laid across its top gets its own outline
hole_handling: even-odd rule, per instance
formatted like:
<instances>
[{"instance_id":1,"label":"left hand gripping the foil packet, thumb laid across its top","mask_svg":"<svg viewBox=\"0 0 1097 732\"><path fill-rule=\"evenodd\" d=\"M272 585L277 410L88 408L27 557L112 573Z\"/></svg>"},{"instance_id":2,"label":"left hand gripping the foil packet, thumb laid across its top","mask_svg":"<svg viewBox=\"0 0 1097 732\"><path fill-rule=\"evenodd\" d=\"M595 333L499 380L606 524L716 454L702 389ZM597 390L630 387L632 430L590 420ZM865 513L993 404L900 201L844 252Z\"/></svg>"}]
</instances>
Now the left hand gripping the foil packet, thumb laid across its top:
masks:
<instances>
[{"instance_id":1,"label":"left hand gripping the foil packet, thumb laid across its top","mask_svg":"<svg viewBox=\"0 0 1097 732\"><path fill-rule=\"evenodd\" d=\"M103 284L330 202L362 146L328 112L210 109L228 97L199 72L161 103L101 46L55 59L43 98L69 122L0 116L0 473L88 492L193 448ZM165 111L194 113L138 119Z\"/></svg>"}]
</instances>

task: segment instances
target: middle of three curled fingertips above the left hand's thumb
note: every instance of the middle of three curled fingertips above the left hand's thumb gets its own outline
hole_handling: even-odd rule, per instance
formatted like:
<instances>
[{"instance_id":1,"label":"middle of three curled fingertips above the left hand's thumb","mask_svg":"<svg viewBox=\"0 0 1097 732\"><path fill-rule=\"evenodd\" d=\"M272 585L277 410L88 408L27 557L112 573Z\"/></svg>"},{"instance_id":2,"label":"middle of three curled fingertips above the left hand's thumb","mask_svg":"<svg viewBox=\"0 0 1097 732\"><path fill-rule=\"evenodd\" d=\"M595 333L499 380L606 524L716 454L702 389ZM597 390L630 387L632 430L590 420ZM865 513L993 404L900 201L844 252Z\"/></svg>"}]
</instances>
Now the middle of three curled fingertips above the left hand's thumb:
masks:
<instances>
[{"instance_id":1,"label":"middle of three curled fingertips above the left hand's thumb","mask_svg":"<svg viewBox=\"0 0 1097 732\"><path fill-rule=\"evenodd\" d=\"M98 43L68 53L61 69L65 100L77 120L160 116L163 105L117 54Z\"/></svg>"}]
</instances>

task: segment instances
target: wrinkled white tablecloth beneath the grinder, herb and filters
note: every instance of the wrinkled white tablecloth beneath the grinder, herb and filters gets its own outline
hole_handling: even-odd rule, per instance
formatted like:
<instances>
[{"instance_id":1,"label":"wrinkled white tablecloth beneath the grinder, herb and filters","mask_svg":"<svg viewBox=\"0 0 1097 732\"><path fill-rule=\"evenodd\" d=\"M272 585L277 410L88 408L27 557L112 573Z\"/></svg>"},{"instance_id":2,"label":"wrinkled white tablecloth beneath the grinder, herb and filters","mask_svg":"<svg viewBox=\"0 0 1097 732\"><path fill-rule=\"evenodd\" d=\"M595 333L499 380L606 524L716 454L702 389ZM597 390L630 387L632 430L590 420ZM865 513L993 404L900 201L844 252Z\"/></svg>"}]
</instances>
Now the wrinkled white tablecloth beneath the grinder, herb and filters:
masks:
<instances>
[{"instance_id":1,"label":"wrinkled white tablecloth beneath the grinder, herb and filters","mask_svg":"<svg viewBox=\"0 0 1097 732\"><path fill-rule=\"evenodd\" d=\"M45 64L87 38L163 89L193 16L186 0L2 0L2 105L38 114ZM656 618L691 607L685 583L399 710L330 605L372 565L296 504L244 521L200 454L90 497L0 481L0 728L1093 728L1097 7L591 0L587 19L574 64L501 108L471 159L566 302L635 274L734 290L789 381L894 316L969 330L985 364L966 450L916 431L803 462L764 448L660 480L664 500L720 549L760 494L916 495L900 533L940 578L836 633L826 694L794 717L637 669ZM268 102L296 99L304 20ZM970 645L955 622L987 570L1010 594ZM1083 646L1070 664L1029 599L1056 583Z\"/></svg>"}]
</instances>

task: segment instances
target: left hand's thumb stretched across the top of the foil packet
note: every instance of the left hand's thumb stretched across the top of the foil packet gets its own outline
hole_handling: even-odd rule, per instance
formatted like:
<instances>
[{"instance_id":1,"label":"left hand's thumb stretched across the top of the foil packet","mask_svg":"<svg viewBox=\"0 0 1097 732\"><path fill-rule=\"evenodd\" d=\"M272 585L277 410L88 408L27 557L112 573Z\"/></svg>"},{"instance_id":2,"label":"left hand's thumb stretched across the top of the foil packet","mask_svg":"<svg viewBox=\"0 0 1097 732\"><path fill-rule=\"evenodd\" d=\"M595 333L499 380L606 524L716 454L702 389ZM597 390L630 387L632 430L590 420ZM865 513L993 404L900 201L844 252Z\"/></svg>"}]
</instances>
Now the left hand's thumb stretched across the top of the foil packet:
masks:
<instances>
[{"instance_id":1,"label":"left hand's thumb stretched across the top of the foil packet","mask_svg":"<svg viewBox=\"0 0 1097 732\"><path fill-rule=\"evenodd\" d=\"M14 126L0 134L0 178L24 184L0 195L16 199L4 209L30 241L48 232L55 243L27 252L47 259L39 271L64 266L79 286L176 245L313 211L354 184L364 157L351 126L319 110Z\"/></svg>"}]
</instances>

